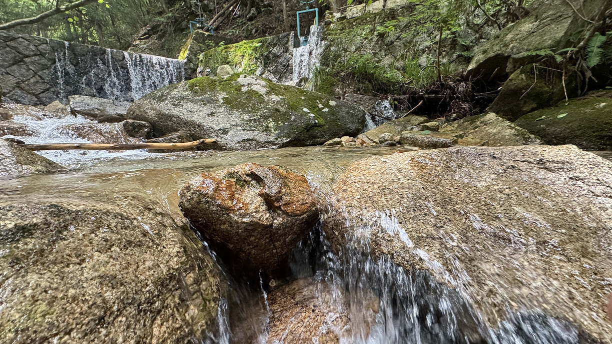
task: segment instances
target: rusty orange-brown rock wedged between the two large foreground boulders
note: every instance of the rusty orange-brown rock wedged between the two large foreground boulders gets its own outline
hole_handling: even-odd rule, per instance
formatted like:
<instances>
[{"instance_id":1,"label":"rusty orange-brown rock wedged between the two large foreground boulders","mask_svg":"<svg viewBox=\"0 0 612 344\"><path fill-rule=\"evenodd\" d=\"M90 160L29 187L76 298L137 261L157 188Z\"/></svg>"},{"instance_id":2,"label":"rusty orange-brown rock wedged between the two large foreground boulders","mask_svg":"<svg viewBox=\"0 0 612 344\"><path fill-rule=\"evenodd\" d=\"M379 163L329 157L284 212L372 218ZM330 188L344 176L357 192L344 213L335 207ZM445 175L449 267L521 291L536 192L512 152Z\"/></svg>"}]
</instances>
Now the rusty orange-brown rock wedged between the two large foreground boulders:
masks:
<instances>
[{"instance_id":1,"label":"rusty orange-brown rock wedged between the two large foreground boulders","mask_svg":"<svg viewBox=\"0 0 612 344\"><path fill-rule=\"evenodd\" d=\"M179 196L193 227L269 275L282 268L319 217L306 178L280 166L249 163L203 173Z\"/></svg>"}]
</instances>

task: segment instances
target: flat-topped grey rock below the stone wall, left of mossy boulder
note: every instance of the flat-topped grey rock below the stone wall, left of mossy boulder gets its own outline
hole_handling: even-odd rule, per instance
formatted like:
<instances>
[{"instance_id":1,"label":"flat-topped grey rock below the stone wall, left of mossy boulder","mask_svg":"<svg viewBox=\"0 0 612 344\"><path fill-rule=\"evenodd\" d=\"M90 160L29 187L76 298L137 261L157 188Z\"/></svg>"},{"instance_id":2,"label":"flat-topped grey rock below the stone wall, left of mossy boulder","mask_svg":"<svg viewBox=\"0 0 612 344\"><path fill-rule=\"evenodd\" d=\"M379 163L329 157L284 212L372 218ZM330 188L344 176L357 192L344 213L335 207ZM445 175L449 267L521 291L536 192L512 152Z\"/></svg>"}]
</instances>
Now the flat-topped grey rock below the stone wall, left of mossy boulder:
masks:
<instances>
[{"instance_id":1,"label":"flat-topped grey rock below the stone wall, left of mossy boulder","mask_svg":"<svg viewBox=\"0 0 612 344\"><path fill-rule=\"evenodd\" d=\"M84 95L71 95L68 97L70 112L74 115L82 115L99 119L100 115L110 119L115 119L111 122L121 122L125 119L125 113L129 108L130 103L127 101L108 100L96 97L87 97ZM121 119L121 120L119 120Z\"/></svg>"}]
</instances>

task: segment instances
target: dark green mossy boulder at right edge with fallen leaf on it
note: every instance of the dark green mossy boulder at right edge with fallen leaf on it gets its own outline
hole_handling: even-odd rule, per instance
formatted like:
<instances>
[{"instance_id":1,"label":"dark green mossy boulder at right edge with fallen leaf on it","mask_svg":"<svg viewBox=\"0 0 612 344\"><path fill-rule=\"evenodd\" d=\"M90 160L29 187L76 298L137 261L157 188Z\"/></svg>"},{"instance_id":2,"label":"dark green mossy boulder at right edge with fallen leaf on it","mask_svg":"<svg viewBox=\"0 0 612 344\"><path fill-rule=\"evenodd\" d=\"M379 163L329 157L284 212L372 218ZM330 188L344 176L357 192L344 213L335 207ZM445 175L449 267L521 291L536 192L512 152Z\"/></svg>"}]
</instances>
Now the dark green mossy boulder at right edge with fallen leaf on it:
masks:
<instances>
[{"instance_id":1,"label":"dark green mossy boulder at right edge with fallen leaf on it","mask_svg":"<svg viewBox=\"0 0 612 344\"><path fill-rule=\"evenodd\" d=\"M567 103L567 105L566 105ZM588 93L514 122L546 144L573 144L586 150L612 149L612 91Z\"/></svg>"}]
</instances>

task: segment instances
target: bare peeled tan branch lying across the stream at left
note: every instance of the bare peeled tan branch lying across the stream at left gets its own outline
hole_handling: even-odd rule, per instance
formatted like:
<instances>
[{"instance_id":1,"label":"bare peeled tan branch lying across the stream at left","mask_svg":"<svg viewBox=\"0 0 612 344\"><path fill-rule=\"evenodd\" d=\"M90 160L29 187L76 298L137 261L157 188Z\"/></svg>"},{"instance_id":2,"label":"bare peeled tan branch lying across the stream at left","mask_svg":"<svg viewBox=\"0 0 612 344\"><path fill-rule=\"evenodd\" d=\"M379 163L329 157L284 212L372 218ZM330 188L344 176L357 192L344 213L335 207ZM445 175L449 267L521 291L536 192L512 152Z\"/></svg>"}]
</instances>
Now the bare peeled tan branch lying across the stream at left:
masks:
<instances>
[{"instance_id":1,"label":"bare peeled tan branch lying across the stream at left","mask_svg":"<svg viewBox=\"0 0 612 344\"><path fill-rule=\"evenodd\" d=\"M216 139L200 139L192 142L181 142L176 144L160 144L146 142L142 144L20 144L28 150L133 150L133 149L185 149L193 148L202 144L212 144Z\"/></svg>"}]
</instances>

